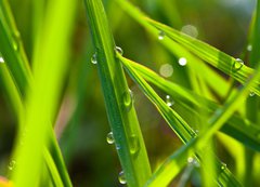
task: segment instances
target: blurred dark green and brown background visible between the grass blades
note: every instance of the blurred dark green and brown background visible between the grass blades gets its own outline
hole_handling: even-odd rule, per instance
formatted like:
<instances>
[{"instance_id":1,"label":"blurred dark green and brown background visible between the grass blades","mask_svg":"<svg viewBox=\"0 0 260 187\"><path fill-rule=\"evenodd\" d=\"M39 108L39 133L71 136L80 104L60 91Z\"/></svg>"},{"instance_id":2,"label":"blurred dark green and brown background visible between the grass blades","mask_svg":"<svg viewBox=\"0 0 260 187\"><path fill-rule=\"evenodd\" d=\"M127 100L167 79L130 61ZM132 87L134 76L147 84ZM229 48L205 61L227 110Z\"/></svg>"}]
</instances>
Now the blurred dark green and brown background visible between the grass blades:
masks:
<instances>
[{"instance_id":1,"label":"blurred dark green and brown background visible between the grass blades","mask_svg":"<svg viewBox=\"0 0 260 187\"><path fill-rule=\"evenodd\" d=\"M34 54L31 2L32 0L10 0L29 61ZM152 18L193 35L234 57L239 57L246 48L247 34L256 5L256 0L132 0L132 2ZM190 88L185 66L180 66L178 59L159 44L157 38L148 35L113 0L104 0L104 5L116 44L122 48L126 57L144 64L156 72L160 72L161 65L170 64L173 74L168 79ZM83 2L78 6L70 46L73 51L70 67L61 98L62 107L57 112L55 130L68 172L76 187L120 186L117 176L121 169L116 150L114 145L106 143L109 125L98 70L90 61L94 52ZM167 156L181 146L181 142L139 88L130 79L128 80L134 94L134 106L142 125L150 161L152 168L156 169ZM165 93L159 92L159 94L165 97ZM16 133L16 121L6 101L1 88L0 175L3 176L9 170L8 164ZM173 105L173 108L185 120L191 120L191 113L178 104ZM216 144L220 158L234 171L232 157L220 143L216 142ZM176 182L178 179L172 186L176 186ZM200 185L196 170L190 185Z\"/></svg>"}]
</instances>

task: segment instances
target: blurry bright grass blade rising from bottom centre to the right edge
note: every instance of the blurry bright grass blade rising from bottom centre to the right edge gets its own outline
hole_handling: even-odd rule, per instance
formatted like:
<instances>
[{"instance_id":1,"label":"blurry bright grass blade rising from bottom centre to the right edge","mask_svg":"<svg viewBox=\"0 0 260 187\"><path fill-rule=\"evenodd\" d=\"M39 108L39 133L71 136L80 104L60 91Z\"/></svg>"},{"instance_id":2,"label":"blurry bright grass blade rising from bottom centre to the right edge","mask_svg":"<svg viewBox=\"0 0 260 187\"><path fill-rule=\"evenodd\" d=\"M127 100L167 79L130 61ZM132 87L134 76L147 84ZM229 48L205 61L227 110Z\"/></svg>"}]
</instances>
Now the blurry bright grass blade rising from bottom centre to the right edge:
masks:
<instances>
[{"instance_id":1,"label":"blurry bright grass blade rising from bottom centre to the right edge","mask_svg":"<svg viewBox=\"0 0 260 187\"><path fill-rule=\"evenodd\" d=\"M246 95L248 94L250 86L253 84L256 80L260 78L260 66L255 71L255 75L251 79L247 81L245 86L237 93L235 96L232 97L232 99L229 99L225 105L216 110L214 115L209 120L209 129L202 132L195 139L192 139L190 142L190 145L185 146L183 149L180 149L181 152L173 153L169 159L161 165L161 168L152 176L152 178L147 182L146 186L156 186L158 182L164 182L165 174L170 173L169 168L178 165L180 163L179 161L183 161L183 157L187 157L188 152L191 152L191 149L202 149L206 144L207 141L218 131L220 128L224 124L224 122L232 116L232 113L236 110L237 107L239 107L246 99ZM255 134L258 136L259 134ZM230 177L230 172L226 173L225 166L222 168L222 173L220 175L219 182L224 183L224 186L240 186L235 179L230 181L227 179ZM169 175L169 174L168 174ZM173 178L176 176L176 173L172 174ZM222 177L221 177L222 176ZM168 176L168 183L170 182L170 177ZM167 178L165 178L167 179ZM225 183L226 182L226 183ZM167 185L166 183L165 185ZM164 186L164 185L162 185Z\"/></svg>"}]
</instances>

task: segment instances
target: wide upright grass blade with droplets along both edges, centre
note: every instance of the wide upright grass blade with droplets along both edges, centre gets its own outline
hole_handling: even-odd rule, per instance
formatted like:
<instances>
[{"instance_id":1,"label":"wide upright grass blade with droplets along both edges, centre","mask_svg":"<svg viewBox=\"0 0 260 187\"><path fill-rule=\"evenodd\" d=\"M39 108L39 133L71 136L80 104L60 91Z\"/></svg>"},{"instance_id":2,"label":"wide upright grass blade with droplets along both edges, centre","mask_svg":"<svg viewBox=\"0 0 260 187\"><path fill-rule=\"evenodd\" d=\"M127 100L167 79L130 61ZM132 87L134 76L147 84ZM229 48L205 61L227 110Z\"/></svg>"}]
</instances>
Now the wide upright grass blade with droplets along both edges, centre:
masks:
<instances>
[{"instance_id":1,"label":"wide upright grass blade with droplets along both edges, centre","mask_svg":"<svg viewBox=\"0 0 260 187\"><path fill-rule=\"evenodd\" d=\"M84 0L108 121L128 186L141 187L151 175L148 158L133 101L101 0Z\"/></svg>"}]
</instances>

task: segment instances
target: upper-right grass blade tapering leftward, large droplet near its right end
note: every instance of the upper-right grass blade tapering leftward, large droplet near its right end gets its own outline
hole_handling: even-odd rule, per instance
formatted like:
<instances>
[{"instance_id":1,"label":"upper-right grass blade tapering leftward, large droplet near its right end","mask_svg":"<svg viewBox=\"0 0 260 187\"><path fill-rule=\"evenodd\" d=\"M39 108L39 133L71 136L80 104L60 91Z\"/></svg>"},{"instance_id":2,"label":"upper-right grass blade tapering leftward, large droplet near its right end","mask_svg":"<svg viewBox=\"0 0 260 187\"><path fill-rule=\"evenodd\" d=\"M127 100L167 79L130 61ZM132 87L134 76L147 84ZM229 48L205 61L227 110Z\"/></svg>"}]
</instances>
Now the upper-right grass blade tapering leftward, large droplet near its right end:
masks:
<instances>
[{"instance_id":1,"label":"upper-right grass blade tapering leftward, large droplet near its right end","mask_svg":"<svg viewBox=\"0 0 260 187\"><path fill-rule=\"evenodd\" d=\"M146 18L146 21L157 27L158 30L165 31L170 39L176 40L191 52L199 56L202 59L231 76L238 82L245 84L247 78L251 76L253 71L251 68L247 67L238 59L235 59L234 57L219 51L218 49L156 21L150 18ZM256 81L251 86L251 90L256 92L256 94L260 95L259 81Z\"/></svg>"}]
</instances>

